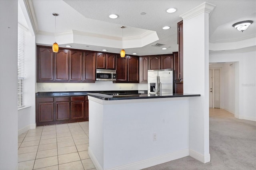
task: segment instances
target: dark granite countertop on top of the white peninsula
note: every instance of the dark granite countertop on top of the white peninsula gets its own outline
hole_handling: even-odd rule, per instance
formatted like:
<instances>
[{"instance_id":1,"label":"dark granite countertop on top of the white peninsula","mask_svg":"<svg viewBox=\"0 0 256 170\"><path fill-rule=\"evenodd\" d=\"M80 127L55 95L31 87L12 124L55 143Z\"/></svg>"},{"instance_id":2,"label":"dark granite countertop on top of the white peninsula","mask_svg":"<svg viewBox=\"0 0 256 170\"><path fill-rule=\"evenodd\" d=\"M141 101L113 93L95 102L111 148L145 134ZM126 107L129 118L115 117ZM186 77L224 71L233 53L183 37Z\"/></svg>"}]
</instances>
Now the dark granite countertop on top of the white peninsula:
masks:
<instances>
[{"instance_id":1,"label":"dark granite countertop on top of the white peninsula","mask_svg":"<svg viewBox=\"0 0 256 170\"><path fill-rule=\"evenodd\" d=\"M126 95L106 95L102 93L87 93L88 96L95 97L102 100L128 100L128 99L156 99L169 97L196 97L198 94L162 94L159 96L148 94L126 94Z\"/></svg>"}]
</instances>

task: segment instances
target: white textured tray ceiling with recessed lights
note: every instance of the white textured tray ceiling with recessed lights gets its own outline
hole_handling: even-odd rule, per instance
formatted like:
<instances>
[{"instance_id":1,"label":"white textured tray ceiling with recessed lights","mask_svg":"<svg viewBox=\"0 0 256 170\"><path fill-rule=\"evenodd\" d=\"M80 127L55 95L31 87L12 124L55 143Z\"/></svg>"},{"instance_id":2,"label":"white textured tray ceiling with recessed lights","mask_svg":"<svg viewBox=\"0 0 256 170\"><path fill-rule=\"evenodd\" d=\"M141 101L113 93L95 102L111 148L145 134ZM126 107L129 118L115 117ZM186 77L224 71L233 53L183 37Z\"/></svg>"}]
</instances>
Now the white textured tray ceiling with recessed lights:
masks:
<instances>
[{"instance_id":1,"label":"white textured tray ceiling with recessed lights","mask_svg":"<svg viewBox=\"0 0 256 170\"><path fill-rule=\"evenodd\" d=\"M240 40L256 36L256 0L30 0L28 2L29 13L36 35L48 35L49 42L54 41L54 21L52 13L58 13L56 17L56 42L64 33L72 30L89 35L91 38L104 38L109 43L96 45L92 40L72 43L62 43L59 38L60 47L66 44L75 49L88 49L119 53L122 48L122 29L124 28L124 49L127 54L134 52L137 55L165 54L178 51L177 45L177 22L182 18L179 16L195 8L203 2L216 5L209 21L210 42L226 42ZM175 13L167 13L168 8L176 8ZM145 12L146 15L141 15ZM110 14L118 14L117 19L110 19ZM254 23L243 33L232 27L232 24L243 20L252 20ZM162 27L170 26L169 30ZM152 31L156 32L158 39L143 39L143 35ZM40 36L38 36L40 37ZM126 46L126 40L141 39L140 43L149 43L143 47ZM63 39L63 38L62 38ZM99 40L99 39L95 39ZM112 43L115 41L114 43ZM38 44L51 45L45 41L36 39ZM154 43L165 44L162 47L151 47ZM106 44L106 45L103 45Z\"/></svg>"}]
</instances>

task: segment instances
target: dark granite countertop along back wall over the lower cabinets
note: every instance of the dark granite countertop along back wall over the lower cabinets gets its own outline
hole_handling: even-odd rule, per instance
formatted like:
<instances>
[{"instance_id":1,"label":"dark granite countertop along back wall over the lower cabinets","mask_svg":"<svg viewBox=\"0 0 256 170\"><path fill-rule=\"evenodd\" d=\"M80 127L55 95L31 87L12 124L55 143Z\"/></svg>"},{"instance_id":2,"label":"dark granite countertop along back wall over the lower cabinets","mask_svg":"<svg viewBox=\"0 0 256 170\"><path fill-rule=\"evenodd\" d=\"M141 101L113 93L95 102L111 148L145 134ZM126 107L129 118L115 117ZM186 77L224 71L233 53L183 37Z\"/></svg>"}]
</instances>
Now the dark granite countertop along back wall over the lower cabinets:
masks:
<instances>
[{"instance_id":1,"label":"dark granite countertop along back wall over the lower cabinets","mask_svg":"<svg viewBox=\"0 0 256 170\"><path fill-rule=\"evenodd\" d=\"M101 94L113 94L118 93L120 95L138 95L147 94L147 90L126 90L126 91L57 91L57 92L37 92L36 97L62 97L62 96L80 96L87 95L88 93L101 93Z\"/></svg>"}]
</instances>

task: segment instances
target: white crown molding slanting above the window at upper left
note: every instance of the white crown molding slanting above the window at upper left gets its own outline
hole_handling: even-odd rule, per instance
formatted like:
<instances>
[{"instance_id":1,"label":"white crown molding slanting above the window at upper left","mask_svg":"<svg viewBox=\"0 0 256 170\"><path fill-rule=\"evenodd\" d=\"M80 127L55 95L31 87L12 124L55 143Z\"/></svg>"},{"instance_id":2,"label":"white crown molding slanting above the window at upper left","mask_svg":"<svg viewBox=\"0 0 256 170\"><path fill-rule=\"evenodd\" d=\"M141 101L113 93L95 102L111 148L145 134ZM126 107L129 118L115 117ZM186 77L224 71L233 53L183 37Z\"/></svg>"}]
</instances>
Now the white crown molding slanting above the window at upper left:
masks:
<instances>
[{"instance_id":1,"label":"white crown molding slanting above the window at upper left","mask_svg":"<svg viewBox=\"0 0 256 170\"><path fill-rule=\"evenodd\" d=\"M34 30L34 33L37 34L38 33L38 23L36 20L36 15L34 12L34 8L33 8L33 4L32 4L32 0L23 0L24 4L26 6L26 10L28 12L28 17L30 19L32 28Z\"/></svg>"}]
</instances>

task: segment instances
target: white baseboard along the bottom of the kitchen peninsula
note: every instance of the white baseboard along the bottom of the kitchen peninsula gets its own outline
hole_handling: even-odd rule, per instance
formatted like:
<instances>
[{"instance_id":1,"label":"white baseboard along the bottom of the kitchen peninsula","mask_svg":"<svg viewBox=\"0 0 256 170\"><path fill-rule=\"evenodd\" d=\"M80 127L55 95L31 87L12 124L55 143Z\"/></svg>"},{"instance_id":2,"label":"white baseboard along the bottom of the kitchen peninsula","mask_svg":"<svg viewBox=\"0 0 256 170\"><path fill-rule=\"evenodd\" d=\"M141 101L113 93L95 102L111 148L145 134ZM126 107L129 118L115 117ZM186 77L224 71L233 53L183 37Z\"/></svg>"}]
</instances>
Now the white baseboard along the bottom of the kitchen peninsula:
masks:
<instances>
[{"instance_id":1,"label":"white baseboard along the bottom of the kitchen peninsula","mask_svg":"<svg viewBox=\"0 0 256 170\"><path fill-rule=\"evenodd\" d=\"M94 163L95 168L97 170L103 170L102 166L98 163L94 154L91 152L90 147L88 148L88 154L89 154L92 162ZM116 166L116 167L113 167L113 168L109 168L108 170L127 170L127 169L140 170L140 169L143 169L143 168L148 168L150 166L155 166L155 165L158 165L158 164L169 162L171 160L176 160L176 159L179 159L179 158L183 158L183 157L188 156L188 155L189 155L188 149L184 149L184 150L180 150L178 152L172 152L170 154L164 154L164 155L161 155L161 156L157 156L157 157L146 159L146 160L141 160L141 161L138 161L138 162L133 162L133 163L130 163L130 164L125 164L125 165L122 165L122 166Z\"/></svg>"}]
</instances>

